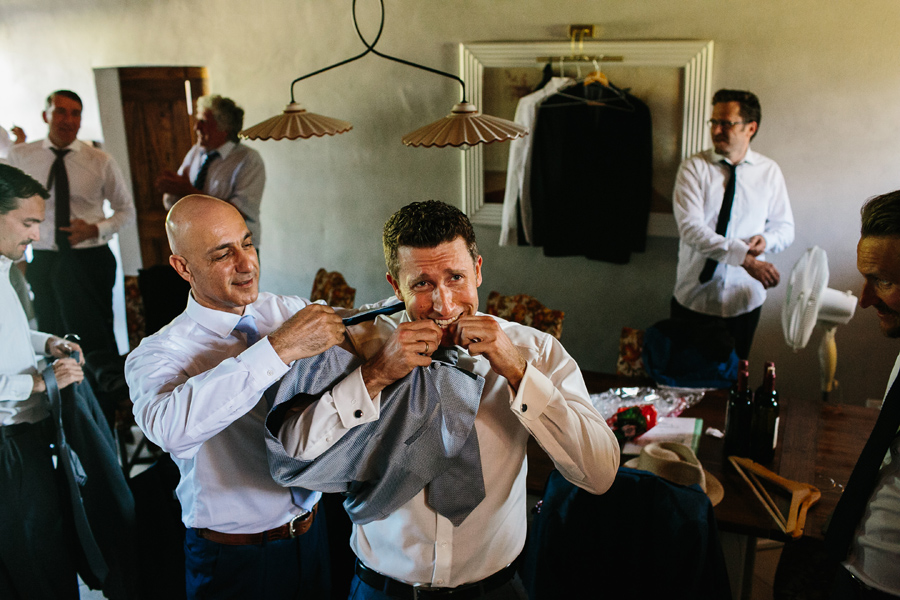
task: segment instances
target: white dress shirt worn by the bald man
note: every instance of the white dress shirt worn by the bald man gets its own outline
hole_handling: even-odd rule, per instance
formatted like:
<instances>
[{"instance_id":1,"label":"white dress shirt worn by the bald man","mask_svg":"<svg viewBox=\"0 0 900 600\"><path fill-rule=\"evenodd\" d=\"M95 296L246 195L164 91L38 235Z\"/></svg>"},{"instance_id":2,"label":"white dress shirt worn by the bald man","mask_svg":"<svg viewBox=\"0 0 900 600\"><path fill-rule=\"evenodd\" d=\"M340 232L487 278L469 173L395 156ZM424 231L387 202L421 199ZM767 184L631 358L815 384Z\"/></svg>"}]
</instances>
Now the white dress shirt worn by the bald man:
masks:
<instances>
[{"instance_id":1,"label":"white dress shirt worn by the bald man","mask_svg":"<svg viewBox=\"0 0 900 600\"><path fill-rule=\"evenodd\" d=\"M261 336L309 302L260 293L245 315ZM187 527L258 533L302 510L269 475L263 392L288 370L263 337L247 348L233 331L236 314L205 308L193 297L185 311L128 356L125 378L135 421L172 455L181 471L176 493ZM310 509L321 494L309 494Z\"/></svg>"}]
</instances>

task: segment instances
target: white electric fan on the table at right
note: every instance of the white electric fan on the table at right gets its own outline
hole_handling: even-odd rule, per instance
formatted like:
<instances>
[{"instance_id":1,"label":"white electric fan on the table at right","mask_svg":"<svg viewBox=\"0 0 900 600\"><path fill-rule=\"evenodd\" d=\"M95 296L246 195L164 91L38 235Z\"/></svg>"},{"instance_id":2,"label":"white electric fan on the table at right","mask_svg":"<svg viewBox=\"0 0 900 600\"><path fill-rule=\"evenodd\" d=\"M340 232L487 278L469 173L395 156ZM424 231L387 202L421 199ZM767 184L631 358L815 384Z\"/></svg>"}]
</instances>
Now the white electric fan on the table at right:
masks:
<instances>
[{"instance_id":1,"label":"white electric fan on the table at right","mask_svg":"<svg viewBox=\"0 0 900 600\"><path fill-rule=\"evenodd\" d=\"M838 325L850 321L856 310L856 296L828 287L828 257L818 246L807 250L791 271L787 297L781 311L784 339L794 352L806 347L813 328L819 323L823 329L819 343L822 397L828 400L837 382L837 345L834 333Z\"/></svg>"}]
</instances>

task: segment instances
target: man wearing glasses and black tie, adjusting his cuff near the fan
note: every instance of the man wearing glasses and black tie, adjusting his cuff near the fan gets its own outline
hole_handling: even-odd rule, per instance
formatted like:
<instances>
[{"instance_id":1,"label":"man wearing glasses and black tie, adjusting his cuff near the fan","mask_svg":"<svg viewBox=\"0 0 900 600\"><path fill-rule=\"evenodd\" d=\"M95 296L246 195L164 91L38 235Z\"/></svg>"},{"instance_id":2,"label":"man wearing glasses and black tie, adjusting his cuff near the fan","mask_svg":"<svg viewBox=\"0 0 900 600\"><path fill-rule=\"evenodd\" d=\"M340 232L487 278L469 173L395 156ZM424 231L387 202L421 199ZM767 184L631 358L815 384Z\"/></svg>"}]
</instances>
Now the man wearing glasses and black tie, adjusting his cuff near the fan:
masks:
<instances>
[{"instance_id":1,"label":"man wearing glasses and black tie, adjusting his cuff near the fan","mask_svg":"<svg viewBox=\"0 0 900 600\"><path fill-rule=\"evenodd\" d=\"M712 103L713 149L681 164L672 197L681 237L672 318L724 321L747 358L766 289L780 278L765 253L791 245L794 217L781 169L750 149L759 99L719 90Z\"/></svg>"}]
</instances>

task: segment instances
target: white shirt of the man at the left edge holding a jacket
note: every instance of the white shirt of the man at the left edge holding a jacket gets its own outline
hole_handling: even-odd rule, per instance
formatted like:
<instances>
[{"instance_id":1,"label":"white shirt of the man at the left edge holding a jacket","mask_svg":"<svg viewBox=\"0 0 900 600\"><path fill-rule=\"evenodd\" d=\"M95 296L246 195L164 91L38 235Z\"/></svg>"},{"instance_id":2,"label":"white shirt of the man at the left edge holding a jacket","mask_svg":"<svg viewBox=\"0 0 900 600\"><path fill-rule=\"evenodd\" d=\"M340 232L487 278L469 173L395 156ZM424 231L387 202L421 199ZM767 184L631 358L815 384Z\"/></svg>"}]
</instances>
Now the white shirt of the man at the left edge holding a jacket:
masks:
<instances>
[{"instance_id":1,"label":"white shirt of the man at the left edge holding a jacket","mask_svg":"<svg viewBox=\"0 0 900 600\"><path fill-rule=\"evenodd\" d=\"M48 417L45 396L32 394L32 373L44 354L48 333L31 331L19 297L9 282L13 262L0 256L0 426L37 423Z\"/></svg>"}]
</instances>

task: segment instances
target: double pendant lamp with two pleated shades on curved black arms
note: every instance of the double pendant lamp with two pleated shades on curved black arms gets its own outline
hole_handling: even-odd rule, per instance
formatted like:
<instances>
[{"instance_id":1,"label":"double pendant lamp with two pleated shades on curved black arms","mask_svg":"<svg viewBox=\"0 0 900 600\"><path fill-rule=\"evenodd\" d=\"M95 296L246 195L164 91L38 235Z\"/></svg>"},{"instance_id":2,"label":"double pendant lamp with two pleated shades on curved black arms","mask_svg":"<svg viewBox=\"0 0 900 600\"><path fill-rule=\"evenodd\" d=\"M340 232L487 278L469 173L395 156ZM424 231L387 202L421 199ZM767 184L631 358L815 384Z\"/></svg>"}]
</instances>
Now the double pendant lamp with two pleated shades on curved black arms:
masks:
<instances>
[{"instance_id":1,"label":"double pendant lamp with two pleated shades on curved black arms","mask_svg":"<svg viewBox=\"0 0 900 600\"><path fill-rule=\"evenodd\" d=\"M403 136L402 141L407 146L420 148L474 146L491 142L505 142L528 134L528 129L522 125L499 117L481 114L475 105L466 101L466 84L456 75L403 60L402 58L389 56L376 50L375 45L384 31L384 0L378 1L381 5L381 23L375 40L370 44L359 30L359 22L356 19L357 0L353 0L353 26L356 28L356 34L359 36L359 39L366 47L362 53L295 79L291 82L291 102L285 107L284 112L244 129L239 135L244 139L250 140L295 140L350 131L353 126L347 121L311 113L301 107L294 98L294 84L335 67L353 62L370 52L381 58L454 79L462 86L462 101L455 105L446 117Z\"/></svg>"}]
</instances>

